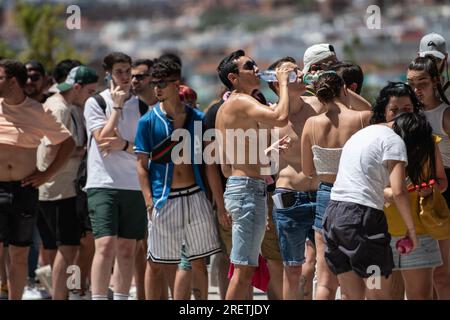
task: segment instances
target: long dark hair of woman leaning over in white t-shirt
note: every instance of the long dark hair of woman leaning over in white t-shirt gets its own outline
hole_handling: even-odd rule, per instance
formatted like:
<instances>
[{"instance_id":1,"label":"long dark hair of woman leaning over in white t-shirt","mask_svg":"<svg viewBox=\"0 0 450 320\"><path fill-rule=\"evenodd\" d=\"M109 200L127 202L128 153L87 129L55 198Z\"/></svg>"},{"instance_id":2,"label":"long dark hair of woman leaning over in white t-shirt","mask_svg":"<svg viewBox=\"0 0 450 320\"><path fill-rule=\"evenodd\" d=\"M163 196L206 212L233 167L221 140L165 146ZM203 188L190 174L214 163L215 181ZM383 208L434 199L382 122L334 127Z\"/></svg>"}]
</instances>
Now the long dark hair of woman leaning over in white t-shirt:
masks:
<instances>
[{"instance_id":1,"label":"long dark hair of woman leaning over in white t-shirt","mask_svg":"<svg viewBox=\"0 0 450 320\"><path fill-rule=\"evenodd\" d=\"M421 184L436 176L435 142L432 129L422 112L405 112L394 119L392 129L405 142L406 171L412 183Z\"/></svg>"}]
</instances>

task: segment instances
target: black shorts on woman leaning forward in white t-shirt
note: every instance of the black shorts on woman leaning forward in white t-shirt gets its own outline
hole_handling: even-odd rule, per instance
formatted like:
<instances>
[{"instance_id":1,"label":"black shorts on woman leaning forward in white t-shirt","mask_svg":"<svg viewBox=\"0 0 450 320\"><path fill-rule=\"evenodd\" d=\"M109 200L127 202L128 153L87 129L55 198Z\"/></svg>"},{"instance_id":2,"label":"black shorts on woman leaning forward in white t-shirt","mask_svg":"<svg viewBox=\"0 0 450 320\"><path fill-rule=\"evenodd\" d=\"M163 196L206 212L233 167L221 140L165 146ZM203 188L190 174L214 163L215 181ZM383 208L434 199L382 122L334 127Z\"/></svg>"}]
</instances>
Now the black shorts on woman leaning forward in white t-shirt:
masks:
<instances>
[{"instance_id":1,"label":"black shorts on woman leaning forward in white t-shirt","mask_svg":"<svg viewBox=\"0 0 450 320\"><path fill-rule=\"evenodd\" d=\"M331 200L323 223L325 259L338 275L354 271L362 278L388 277L394 260L384 212L364 205Z\"/></svg>"}]
</instances>

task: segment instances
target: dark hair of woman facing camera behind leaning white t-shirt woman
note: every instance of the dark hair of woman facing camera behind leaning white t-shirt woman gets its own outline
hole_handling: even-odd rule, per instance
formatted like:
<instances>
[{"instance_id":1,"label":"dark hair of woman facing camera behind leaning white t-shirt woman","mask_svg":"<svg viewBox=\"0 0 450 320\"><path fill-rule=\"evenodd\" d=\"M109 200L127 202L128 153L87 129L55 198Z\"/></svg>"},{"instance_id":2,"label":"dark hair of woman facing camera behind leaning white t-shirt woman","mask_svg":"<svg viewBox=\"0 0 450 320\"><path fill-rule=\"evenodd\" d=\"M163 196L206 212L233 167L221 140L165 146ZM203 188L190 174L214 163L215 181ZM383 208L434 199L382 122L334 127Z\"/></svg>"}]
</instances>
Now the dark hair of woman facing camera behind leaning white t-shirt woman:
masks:
<instances>
[{"instance_id":1,"label":"dark hair of woman facing camera behind leaning white t-shirt woman","mask_svg":"<svg viewBox=\"0 0 450 320\"><path fill-rule=\"evenodd\" d=\"M403 82L389 82L387 86L381 89L375 103L372 105L371 124L386 122L386 106L392 97L409 97L414 113L418 113L424 108L423 103L417 98L411 86Z\"/></svg>"}]
</instances>

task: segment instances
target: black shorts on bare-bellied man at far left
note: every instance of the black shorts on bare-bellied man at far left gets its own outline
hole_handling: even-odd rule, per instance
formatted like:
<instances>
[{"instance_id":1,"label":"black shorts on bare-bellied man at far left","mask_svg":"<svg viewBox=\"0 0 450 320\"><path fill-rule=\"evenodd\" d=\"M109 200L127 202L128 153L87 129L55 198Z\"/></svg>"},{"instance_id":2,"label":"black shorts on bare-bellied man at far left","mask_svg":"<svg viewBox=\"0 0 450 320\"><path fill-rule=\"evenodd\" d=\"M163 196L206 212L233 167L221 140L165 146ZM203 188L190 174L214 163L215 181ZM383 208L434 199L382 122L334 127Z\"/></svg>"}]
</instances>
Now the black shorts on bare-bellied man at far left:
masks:
<instances>
[{"instance_id":1,"label":"black shorts on bare-bellied man at far left","mask_svg":"<svg viewBox=\"0 0 450 320\"><path fill-rule=\"evenodd\" d=\"M39 191L20 184L0 182L0 242L28 247L33 242Z\"/></svg>"}]
</instances>

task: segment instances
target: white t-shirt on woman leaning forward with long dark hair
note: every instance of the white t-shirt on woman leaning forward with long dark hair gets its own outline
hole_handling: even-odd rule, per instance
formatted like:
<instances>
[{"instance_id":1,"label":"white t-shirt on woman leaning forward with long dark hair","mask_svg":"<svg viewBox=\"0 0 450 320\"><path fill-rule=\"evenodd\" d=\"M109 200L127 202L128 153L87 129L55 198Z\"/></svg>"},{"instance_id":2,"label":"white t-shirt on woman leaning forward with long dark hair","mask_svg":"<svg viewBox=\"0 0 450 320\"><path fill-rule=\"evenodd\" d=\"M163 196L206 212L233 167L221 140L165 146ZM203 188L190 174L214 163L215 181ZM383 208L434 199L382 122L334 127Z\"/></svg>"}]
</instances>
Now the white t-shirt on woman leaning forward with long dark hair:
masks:
<instances>
[{"instance_id":1,"label":"white t-shirt on woman leaning forward with long dark hair","mask_svg":"<svg viewBox=\"0 0 450 320\"><path fill-rule=\"evenodd\" d=\"M372 125L356 132L342 150L331 200L383 210L389 185L387 160L408 162L406 146L392 129Z\"/></svg>"}]
</instances>

